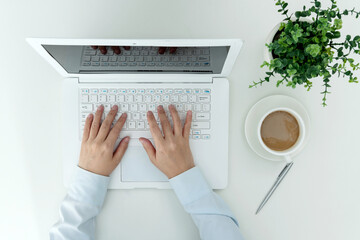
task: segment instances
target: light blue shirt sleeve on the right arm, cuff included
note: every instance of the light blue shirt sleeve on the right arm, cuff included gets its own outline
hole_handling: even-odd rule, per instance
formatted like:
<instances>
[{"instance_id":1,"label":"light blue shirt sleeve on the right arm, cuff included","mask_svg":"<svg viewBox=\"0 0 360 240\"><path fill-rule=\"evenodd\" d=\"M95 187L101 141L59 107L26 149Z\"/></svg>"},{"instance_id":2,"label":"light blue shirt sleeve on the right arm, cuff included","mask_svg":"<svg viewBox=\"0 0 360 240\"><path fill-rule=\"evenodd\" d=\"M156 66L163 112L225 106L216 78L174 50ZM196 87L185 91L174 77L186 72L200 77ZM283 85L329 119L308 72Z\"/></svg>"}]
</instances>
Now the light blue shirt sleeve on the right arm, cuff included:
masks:
<instances>
[{"instance_id":1,"label":"light blue shirt sleeve on the right arm, cuff included","mask_svg":"<svg viewBox=\"0 0 360 240\"><path fill-rule=\"evenodd\" d=\"M185 211L191 214L201 239L243 239L234 215L212 191L199 168L194 167L169 181Z\"/></svg>"}]
</instances>

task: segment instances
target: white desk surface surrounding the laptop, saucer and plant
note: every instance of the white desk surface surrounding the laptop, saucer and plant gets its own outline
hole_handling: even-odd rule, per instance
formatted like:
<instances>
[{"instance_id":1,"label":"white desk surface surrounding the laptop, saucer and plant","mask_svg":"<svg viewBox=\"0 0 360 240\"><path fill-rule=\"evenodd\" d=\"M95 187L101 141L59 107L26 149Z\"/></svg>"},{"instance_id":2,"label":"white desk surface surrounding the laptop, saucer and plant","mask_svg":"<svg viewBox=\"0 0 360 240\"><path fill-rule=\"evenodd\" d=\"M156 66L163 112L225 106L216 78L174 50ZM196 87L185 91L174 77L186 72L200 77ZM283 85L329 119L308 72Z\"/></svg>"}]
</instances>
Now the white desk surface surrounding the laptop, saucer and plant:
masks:
<instances>
[{"instance_id":1,"label":"white desk surface surrounding the laptop, saucer and plant","mask_svg":"<svg viewBox=\"0 0 360 240\"><path fill-rule=\"evenodd\" d=\"M290 0L290 9L309 1ZM323 1L326 2L326 1ZM355 0L341 7L360 9ZM132 0L6 1L0 10L0 238L48 239L66 190L62 184L61 80L26 37L242 38L229 76L229 204L245 239L360 238L360 85L332 78L329 106L320 82L310 92L249 89L264 76L264 41L282 17L273 1ZM360 20L344 19L343 33L359 34ZM358 73L359 75L359 73ZM311 139L260 215L254 212L283 167L248 146L250 107L272 94L295 97L308 109ZM97 239L199 239L171 190L109 191Z\"/></svg>"}]
</instances>

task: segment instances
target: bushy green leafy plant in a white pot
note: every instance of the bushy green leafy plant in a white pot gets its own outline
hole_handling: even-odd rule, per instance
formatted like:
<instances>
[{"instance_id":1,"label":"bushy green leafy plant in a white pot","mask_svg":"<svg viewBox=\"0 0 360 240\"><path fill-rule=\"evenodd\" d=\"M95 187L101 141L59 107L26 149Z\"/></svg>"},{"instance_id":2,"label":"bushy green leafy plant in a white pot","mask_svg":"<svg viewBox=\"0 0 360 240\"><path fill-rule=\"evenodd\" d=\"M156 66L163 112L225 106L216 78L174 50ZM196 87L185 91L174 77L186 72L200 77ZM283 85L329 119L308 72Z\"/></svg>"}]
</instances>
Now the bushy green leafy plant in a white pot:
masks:
<instances>
[{"instance_id":1,"label":"bushy green leafy plant in a white pot","mask_svg":"<svg viewBox=\"0 0 360 240\"><path fill-rule=\"evenodd\" d=\"M322 8L321 2L315 0L309 8L304 6L302 11L289 14L288 3L276 0L278 12L286 18L275 27L265 45L267 57L261 67L269 69L266 77L254 81L250 88L279 75L276 86L304 85L309 91L313 79L320 77L324 86L322 104L326 106L333 75L347 77L351 83L358 82L354 72L360 69L360 64L351 56L360 55L360 36L347 35L340 40L340 29L343 16L358 18L360 13L355 9L341 11L335 0L330 1L328 8Z\"/></svg>"}]
</instances>

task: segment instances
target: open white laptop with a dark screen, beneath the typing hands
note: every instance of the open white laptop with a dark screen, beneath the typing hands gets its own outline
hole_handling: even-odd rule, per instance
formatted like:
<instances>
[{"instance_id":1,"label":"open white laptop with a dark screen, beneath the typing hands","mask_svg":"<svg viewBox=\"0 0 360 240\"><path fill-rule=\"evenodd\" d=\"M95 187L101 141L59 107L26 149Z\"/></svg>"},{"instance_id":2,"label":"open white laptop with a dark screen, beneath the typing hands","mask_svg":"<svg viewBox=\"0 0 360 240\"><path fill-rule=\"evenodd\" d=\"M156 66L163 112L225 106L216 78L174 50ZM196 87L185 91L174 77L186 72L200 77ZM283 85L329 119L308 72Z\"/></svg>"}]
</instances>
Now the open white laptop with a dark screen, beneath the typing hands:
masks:
<instances>
[{"instance_id":1,"label":"open white laptop with a dark screen, beneath the typing hands","mask_svg":"<svg viewBox=\"0 0 360 240\"><path fill-rule=\"evenodd\" d=\"M110 189L170 188L139 142L150 138L146 112L174 104L182 120L193 111L190 147L195 164L214 189L228 179L230 74L242 46L239 39L27 39L65 79L63 166L68 186L77 167L86 116L99 104L112 105L128 119L118 141L129 148L111 175ZM91 46L108 46L107 53ZM110 46L120 46L114 53ZM130 46L125 50L122 46ZM160 54L159 47L177 47ZM128 48L127 48L128 49ZM117 116L117 117L118 117Z\"/></svg>"}]
</instances>

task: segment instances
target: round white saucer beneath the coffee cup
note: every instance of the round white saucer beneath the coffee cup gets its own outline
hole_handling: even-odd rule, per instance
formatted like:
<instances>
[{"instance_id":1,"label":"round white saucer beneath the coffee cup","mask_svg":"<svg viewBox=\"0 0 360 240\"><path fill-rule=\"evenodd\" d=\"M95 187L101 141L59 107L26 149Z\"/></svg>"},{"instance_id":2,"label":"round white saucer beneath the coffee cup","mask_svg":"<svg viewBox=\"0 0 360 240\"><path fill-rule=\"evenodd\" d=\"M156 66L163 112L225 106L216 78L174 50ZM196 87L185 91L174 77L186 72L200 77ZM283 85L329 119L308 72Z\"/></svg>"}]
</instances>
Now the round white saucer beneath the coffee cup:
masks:
<instances>
[{"instance_id":1,"label":"round white saucer beneath the coffee cup","mask_svg":"<svg viewBox=\"0 0 360 240\"><path fill-rule=\"evenodd\" d=\"M270 111L273 108L290 108L296 111L301 118L304 120L305 124L305 140L302 146L293 153L290 157L295 157L306 145L309 139L310 134L310 118L306 112L305 107L299 103L296 99L285 96L285 95L273 95L258 101L249 111L246 120L245 120L245 137L255 153L259 156L272 160L272 161L283 161L284 157L276 156L268 151L266 151L260 144L257 130L258 124L261 118L266 114L266 112Z\"/></svg>"}]
</instances>

